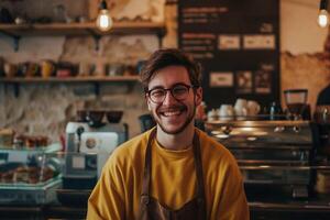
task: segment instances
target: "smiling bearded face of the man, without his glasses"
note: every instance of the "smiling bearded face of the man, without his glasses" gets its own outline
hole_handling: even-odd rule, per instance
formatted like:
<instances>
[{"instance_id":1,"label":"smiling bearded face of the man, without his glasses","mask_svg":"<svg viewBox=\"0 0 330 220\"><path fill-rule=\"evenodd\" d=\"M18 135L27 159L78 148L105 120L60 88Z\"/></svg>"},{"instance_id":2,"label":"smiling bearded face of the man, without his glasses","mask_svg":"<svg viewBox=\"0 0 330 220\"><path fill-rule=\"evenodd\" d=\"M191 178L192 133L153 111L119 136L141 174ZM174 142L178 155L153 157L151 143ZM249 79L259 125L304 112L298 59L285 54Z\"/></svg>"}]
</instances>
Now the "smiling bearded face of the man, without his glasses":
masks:
<instances>
[{"instance_id":1,"label":"smiling bearded face of the man, without his glasses","mask_svg":"<svg viewBox=\"0 0 330 220\"><path fill-rule=\"evenodd\" d=\"M191 86L188 72L183 66L168 66L155 73L148 84L148 90L155 88L170 89L177 85ZM185 99L176 99L169 90L166 91L164 101L155 103L146 97L148 110L152 112L158 127L168 134L177 134L193 124L195 110L201 102L201 88L189 88Z\"/></svg>"}]
</instances>

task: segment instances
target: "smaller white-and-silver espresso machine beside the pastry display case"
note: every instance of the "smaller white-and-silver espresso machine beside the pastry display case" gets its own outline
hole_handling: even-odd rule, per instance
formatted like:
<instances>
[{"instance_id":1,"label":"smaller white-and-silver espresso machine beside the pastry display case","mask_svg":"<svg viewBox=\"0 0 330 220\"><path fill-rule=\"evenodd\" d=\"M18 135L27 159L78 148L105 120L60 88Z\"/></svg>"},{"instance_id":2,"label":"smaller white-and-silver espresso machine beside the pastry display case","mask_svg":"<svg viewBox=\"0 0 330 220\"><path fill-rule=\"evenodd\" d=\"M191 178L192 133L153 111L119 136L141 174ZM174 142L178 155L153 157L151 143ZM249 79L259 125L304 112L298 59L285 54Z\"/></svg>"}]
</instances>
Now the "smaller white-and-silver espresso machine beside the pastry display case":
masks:
<instances>
[{"instance_id":1,"label":"smaller white-and-silver espresso machine beside the pastry display case","mask_svg":"<svg viewBox=\"0 0 330 220\"><path fill-rule=\"evenodd\" d=\"M92 189L111 152L128 140L127 123L68 122L64 189Z\"/></svg>"}]
</instances>

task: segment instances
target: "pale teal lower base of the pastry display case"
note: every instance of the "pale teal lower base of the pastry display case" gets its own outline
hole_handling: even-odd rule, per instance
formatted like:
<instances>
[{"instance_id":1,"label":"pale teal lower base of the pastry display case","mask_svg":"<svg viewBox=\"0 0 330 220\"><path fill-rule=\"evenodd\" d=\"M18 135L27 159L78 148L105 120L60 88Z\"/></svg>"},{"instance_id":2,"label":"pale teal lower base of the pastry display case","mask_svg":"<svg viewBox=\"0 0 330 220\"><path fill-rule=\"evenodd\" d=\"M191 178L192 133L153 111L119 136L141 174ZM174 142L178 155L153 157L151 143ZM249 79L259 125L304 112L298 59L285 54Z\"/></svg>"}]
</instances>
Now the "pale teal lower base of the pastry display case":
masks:
<instances>
[{"instance_id":1,"label":"pale teal lower base of the pastry display case","mask_svg":"<svg viewBox=\"0 0 330 220\"><path fill-rule=\"evenodd\" d=\"M37 184L0 184L1 205L44 205L56 200L56 189L62 187L62 175Z\"/></svg>"}]
</instances>

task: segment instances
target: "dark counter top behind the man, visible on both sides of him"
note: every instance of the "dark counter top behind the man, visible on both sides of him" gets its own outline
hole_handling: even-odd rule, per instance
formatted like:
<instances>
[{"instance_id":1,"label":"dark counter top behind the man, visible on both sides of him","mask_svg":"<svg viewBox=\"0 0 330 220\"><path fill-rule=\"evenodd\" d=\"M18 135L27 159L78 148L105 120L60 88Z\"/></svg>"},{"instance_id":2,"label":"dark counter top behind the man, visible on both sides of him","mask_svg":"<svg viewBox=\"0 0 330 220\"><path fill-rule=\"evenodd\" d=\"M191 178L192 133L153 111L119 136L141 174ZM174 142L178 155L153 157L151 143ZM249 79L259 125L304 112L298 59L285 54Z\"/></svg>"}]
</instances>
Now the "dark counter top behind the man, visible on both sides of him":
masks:
<instances>
[{"instance_id":1,"label":"dark counter top behind the man, visible on both sides of him","mask_svg":"<svg viewBox=\"0 0 330 220\"><path fill-rule=\"evenodd\" d=\"M253 200L249 201L252 220L326 220L330 215L330 196L304 200ZM0 206L1 217L7 219L85 219L87 205L62 206L58 202L45 206ZM316 218L317 216L317 218Z\"/></svg>"}]
</instances>

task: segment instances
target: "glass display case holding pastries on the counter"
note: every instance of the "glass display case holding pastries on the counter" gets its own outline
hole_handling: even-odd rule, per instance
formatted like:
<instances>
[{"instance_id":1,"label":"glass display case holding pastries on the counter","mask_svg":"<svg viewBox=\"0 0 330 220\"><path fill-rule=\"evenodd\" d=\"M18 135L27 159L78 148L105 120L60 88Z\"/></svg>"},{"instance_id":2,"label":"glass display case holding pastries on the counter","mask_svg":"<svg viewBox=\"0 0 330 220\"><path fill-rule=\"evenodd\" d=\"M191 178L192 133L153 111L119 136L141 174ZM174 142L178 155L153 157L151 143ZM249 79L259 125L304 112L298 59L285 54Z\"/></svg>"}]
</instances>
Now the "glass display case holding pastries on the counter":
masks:
<instances>
[{"instance_id":1,"label":"glass display case holding pastries on the counter","mask_svg":"<svg viewBox=\"0 0 330 220\"><path fill-rule=\"evenodd\" d=\"M44 205L62 187L58 143L42 147L0 146L0 205Z\"/></svg>"}]
</instances>

